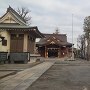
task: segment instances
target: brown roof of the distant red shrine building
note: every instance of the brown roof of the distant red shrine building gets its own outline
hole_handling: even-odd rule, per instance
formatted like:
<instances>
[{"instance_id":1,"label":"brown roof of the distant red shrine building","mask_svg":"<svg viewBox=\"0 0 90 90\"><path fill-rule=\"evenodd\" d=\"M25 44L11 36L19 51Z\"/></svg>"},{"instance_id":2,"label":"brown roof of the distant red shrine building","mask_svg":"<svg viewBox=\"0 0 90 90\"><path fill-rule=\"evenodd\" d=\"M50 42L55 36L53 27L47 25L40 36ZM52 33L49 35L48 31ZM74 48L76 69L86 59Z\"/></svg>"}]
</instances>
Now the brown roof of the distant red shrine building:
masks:
<instances>
[{"instance_id":1,"label":"brown roof of the distant red shrine building","mask_svg":"<svg viewBox=\"0 0 90 90\"><path fill-rule=\"evenodd\" d=\"M58 46L72 46L71 43L67 42L66 34L44 34L45 38L41 38L38 45L49 45L49 44L56 44Z\"/></svg>"}]
</instances>

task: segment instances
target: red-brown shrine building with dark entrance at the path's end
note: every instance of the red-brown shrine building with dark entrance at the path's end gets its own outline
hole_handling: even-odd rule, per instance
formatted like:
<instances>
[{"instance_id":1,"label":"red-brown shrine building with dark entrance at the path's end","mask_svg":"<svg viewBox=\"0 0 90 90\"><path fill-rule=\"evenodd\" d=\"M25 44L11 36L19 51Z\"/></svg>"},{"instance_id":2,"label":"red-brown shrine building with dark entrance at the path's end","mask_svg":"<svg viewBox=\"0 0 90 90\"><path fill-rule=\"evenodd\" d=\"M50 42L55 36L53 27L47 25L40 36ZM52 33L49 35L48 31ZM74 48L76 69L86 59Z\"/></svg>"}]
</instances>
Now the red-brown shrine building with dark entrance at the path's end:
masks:
<instances>
[{"instance_id":1,"label":"red-brown shrine building with dark entrance at the path's end","mask_svg":"<svg viewBox=\"0 0 90 90\"><path fill-rule=\"evenodd\" d=\"M70 57L72 44L67 42L66 34L44 34L37 42L38 53L43 57Z\"/></svg>"}]
</instances>

